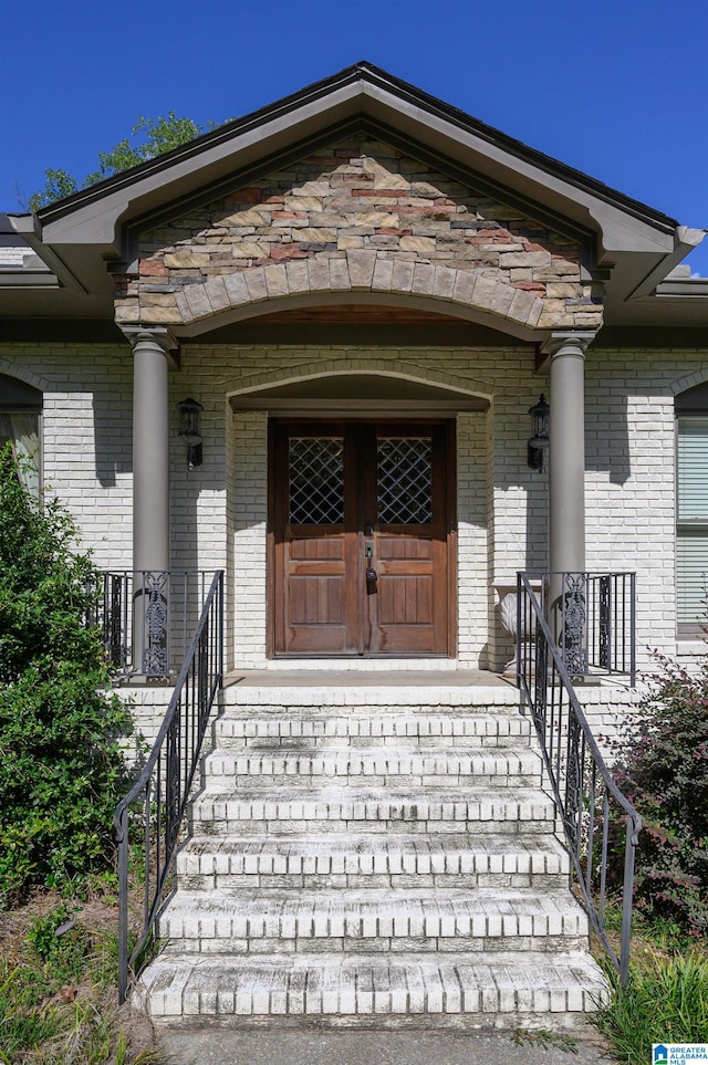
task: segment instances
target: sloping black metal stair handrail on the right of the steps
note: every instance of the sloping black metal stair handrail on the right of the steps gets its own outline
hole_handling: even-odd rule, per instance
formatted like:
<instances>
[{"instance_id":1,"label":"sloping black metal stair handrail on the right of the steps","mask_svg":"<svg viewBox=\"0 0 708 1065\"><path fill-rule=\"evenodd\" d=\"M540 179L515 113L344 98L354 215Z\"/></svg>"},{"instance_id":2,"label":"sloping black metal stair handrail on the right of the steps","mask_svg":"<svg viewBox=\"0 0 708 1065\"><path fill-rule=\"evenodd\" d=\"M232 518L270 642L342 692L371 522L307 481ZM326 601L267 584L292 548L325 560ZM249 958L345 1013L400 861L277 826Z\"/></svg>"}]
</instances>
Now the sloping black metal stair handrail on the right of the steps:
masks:
<instances>
[{"instance_id":1,"label":"sloping black metal stair handrail on the right of the steps","mask_svg":"<svg viewBox=\"0 0 708 1065\"><path fill-rule=\"evenodd\" d=\"M517 637L518 685L531 710L556 813L563 825L571 858L571 887L577 888L591 925L625 986L634 858L642 819L612 779L542 604L524 573L517 574ZM608 858L611 852L622 848L623 842L622 873L615 880ZM622 895L618 951L606 929L611 891Z\"/></svg>"}]
</instances>

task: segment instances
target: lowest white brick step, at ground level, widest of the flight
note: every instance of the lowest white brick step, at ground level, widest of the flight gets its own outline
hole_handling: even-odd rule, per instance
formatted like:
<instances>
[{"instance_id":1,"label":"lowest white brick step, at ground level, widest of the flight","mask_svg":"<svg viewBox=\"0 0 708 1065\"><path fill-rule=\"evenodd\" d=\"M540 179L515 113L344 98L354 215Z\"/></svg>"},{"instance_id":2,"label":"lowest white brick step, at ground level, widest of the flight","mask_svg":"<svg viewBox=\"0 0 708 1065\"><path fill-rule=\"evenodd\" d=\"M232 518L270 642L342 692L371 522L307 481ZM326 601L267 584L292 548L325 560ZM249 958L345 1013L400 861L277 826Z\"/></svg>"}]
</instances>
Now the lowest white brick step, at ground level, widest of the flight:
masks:
<instances>
[{"instance_id":1,"label":"lowest white brick step, at ground level, widest of the flight","mask_svg":"<svg viewBox=\"0 0 708 1065\"><path fill-rule=\"evenodd\" d=\"M378 1027L424 1019L470 1027L572 1027L607 1000L589 954L290 956L228 959L167 950L134 1001L154 1020L317 1017Z\"/></svg>"}]
</instances>

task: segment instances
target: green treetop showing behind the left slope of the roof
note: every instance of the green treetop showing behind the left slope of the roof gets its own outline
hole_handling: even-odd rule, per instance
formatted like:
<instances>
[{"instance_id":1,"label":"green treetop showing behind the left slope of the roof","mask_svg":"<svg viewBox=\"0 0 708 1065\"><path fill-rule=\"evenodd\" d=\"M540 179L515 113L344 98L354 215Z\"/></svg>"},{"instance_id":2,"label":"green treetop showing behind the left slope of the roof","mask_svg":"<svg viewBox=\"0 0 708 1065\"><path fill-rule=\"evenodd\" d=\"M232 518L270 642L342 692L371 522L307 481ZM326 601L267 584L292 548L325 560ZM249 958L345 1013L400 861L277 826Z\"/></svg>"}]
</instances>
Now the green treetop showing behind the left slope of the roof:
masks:
<instances>
[{"instance_id":1,"label":"green treetop showing behind the left slope of the roof","mask_svg":"<svg viewBox=\"0 0 708 1065\"><path fill-rule=\"evenodd\" d=\"M212 129L215 125L217 124L207 123L206 126L201 126L191 118L178 117L174 111L157 118L145 118L140 115L129 137L118 142L110 152L98 153L98 169L87 174L82 181L72 177L66 170L45 170L44 188L30 197L29 207L37 211L41 207L46 207L48 203L63 199L64 196L71 196L80 189L113 177L114 174L129 170L139 163L154 159L155 156L188 144L195 137Z\"/></svg>"}]
</instances>

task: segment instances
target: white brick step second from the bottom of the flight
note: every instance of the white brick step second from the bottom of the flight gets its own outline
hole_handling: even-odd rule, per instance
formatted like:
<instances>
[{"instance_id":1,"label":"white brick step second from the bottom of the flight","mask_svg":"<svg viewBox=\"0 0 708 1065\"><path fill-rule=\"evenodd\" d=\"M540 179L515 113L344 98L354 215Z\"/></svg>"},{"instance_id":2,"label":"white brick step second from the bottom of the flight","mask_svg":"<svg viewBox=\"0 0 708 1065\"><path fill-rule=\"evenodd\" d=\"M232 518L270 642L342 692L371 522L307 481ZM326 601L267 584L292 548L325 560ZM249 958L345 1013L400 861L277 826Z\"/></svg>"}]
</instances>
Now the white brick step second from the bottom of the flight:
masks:
<instances>
[{"instance_id":1,"label":"white brick step second from the bottom of the flight","mask_svg":"<svg viewBox=\"0 0 708 1065\"><path fill-rule=\"evenodd\" d=\"M160 937L202 953L561 951L587 942L570 892L530 889L303 892L178 890Z\"/></svg>"}]
</instances>

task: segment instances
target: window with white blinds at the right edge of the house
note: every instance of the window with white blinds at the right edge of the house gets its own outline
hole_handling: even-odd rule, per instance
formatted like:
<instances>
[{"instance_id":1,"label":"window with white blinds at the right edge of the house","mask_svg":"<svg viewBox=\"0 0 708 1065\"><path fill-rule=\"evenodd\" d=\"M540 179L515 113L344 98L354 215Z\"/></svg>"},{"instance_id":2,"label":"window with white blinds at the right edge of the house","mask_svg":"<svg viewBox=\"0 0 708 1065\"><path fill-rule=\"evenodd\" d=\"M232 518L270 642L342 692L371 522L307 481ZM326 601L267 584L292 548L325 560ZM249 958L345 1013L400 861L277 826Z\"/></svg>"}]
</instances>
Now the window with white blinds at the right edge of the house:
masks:
<instances>
[{"instance_id":1,"label":"window with white blinds at the right edge of the house","mask_svg":"<svg viewBox=\"0 0 708 1065\"><path fill-rule=\"evenodd\" d=\"M679 635L708 623L708 386L676 397L676 599Z\"/></svg>"}]
</instances>

